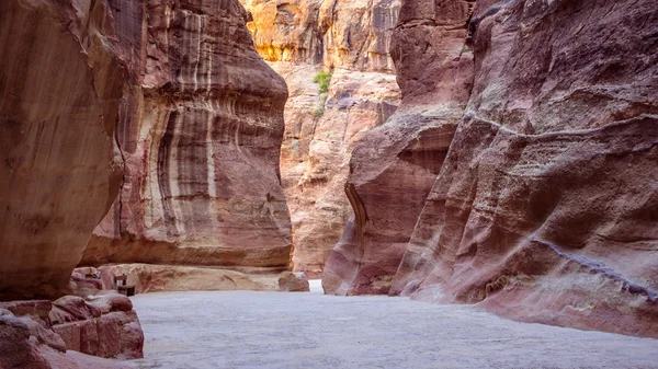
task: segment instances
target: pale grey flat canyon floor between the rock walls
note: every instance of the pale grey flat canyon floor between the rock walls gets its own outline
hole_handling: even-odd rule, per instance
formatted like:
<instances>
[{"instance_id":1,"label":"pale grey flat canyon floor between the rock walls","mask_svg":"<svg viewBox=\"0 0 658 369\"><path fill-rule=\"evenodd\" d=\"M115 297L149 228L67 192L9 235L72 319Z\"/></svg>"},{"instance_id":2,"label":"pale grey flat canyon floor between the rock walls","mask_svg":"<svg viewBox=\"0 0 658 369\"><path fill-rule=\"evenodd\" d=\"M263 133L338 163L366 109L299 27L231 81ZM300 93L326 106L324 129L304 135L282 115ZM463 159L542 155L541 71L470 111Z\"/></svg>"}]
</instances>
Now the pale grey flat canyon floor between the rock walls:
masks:
<instances>
[{"instance_id":1,"label":"pale grey flat canyon floor between the rock walls","mask_svg":"<svg viewBox=\"0 0 658 369\"><path fill-rule=\"evenodd\" d=\"M324 296L313 282L310 293L161 292L133 303L146 343L145 359L129 364L140 369L658 368L658 339L467 305Z\"/></svg>"}]
</instances>

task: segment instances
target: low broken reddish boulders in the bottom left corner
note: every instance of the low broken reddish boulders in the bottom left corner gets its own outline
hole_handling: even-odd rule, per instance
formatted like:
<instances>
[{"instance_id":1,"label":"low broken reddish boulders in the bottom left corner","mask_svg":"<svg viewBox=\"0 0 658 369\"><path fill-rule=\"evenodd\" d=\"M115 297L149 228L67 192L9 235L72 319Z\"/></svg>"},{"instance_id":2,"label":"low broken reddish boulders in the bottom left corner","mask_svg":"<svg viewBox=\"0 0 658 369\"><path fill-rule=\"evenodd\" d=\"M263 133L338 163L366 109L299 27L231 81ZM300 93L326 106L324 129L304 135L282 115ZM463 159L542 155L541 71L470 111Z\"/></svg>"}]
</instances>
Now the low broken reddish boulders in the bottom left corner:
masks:
<instances>
[{"instance_id":1,"label":"low broken reddish boulders in the bottom left corner","mask_svg":"<svg viewBox=\"0 0 658 369\"><path fill-rule=\"evenodd\" d=\"M136 359L143 345L137 314L121 295L0 303L0 368L124 368L88 355Z\"/></svg>"}]
</instances>

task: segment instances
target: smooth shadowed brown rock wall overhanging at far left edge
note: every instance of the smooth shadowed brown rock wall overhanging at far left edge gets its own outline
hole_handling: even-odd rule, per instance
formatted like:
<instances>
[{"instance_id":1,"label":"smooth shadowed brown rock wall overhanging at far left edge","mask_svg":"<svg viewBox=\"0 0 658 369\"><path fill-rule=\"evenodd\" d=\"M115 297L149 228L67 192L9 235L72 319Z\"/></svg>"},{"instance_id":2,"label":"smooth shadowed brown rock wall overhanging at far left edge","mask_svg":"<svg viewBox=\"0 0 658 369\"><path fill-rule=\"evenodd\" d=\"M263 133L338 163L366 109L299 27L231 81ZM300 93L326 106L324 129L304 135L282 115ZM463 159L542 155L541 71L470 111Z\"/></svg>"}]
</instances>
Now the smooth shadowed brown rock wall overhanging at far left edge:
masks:
<instances>
[{"instance_id":1,"label":"smooth shadowed brown rock wall overhanging at far left edge","mask_svg":"<svg viewBox=\"0 0 658 369\"><path fill-rule=\"evenodd\" d=\"M106 3L0 2L0 299L56 298L114 199L124 83Z\"/></svg>"}]
</instances>

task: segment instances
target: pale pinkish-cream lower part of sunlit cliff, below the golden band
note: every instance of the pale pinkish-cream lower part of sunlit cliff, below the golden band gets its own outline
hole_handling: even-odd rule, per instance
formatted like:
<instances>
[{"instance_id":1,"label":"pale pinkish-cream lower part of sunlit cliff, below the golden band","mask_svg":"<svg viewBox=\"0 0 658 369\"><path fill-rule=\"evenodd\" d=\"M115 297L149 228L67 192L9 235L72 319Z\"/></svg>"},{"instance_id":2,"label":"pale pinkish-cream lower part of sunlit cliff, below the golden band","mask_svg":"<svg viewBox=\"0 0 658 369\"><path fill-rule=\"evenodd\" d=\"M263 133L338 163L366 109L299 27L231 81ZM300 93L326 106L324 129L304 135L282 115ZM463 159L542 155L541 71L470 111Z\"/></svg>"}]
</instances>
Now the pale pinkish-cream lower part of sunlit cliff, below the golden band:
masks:
<instances>
[{"instance_id":1,"label":"pale pinkish-cream lower part of sunlit cliff, below the golden band","mask_svg":"<svg viewBox=\"0 0 658 369\"><path fill-rule=\"evenodd\" d=\"M314 116L317 67L279 62L274 68L293 96L286 104L281 150L294 230L293 267L317 276L350 216L343 188L354 143L395 111L398 89L392 74L334 70L321 116Z\"/></svg>"}]
</instances>

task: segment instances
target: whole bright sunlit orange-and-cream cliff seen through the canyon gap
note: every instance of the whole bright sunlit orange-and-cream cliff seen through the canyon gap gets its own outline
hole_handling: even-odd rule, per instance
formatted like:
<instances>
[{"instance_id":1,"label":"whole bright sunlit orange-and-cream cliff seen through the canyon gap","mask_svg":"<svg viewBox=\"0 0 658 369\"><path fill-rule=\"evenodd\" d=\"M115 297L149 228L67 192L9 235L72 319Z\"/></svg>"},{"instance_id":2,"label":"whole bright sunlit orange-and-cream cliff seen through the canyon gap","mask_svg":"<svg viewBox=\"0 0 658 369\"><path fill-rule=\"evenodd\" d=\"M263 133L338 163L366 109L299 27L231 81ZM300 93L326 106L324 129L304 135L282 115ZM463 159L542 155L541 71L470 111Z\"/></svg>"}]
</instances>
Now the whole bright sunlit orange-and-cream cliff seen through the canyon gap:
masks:
<instances>
[{"instance_id":1,"label":"whole bright sunlit orange-and-cream cliff seen through the canyon gap","mask_svg":"<svg viewBox=\"0 0 658 369\"><path fill-rule=\"evenodd\" d=\"M257 50L288 84L281 151L293 266L316 277L340 239L356 142L399 104L389 55L399 1L242 1ZM322 93L314 77L332 70Z\"/></svg>"}]
</instances>

